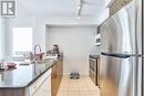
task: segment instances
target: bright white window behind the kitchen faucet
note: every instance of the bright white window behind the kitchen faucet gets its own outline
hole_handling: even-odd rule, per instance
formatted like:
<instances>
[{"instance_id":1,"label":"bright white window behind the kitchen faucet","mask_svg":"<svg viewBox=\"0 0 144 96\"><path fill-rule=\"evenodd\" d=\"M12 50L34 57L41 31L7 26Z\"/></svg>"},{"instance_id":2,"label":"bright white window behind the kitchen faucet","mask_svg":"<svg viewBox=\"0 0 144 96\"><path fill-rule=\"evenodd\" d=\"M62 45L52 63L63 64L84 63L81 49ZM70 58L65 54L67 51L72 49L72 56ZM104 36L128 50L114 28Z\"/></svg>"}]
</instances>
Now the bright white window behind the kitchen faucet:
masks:
<instances>
[{"instance_id":1,"label":"bright white window behind the kitchen faucet","mask_svg":"<svg viewBox=\"0 0 144 96\"><path fill-rule=\"evenodd\" d=\"M32 52L32 28L13 28L13 55Z\"/></svg>"}]
</instances>

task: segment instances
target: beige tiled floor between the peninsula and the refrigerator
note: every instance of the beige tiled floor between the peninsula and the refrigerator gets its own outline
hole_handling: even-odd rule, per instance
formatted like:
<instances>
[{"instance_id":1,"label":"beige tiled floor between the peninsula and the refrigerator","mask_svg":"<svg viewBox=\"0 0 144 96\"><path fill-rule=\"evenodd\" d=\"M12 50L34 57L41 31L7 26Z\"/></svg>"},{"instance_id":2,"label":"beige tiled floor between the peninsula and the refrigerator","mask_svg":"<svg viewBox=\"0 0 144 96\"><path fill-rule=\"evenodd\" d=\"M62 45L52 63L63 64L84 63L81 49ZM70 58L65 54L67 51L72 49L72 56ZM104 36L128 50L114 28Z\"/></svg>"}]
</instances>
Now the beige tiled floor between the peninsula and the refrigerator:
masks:
<instances>
[{"instance_id":1,"label":"beige tiled floor between the peninsula and the refrigerator","mask_svg":"<svg viewBox=\"0 0 144 96\"><path fill-rule=\"evenodd\" d=\"M100 96L100 89L89 76L81 76L80 79L64 76L56 96Z\"/></svg>"}]
</instances>

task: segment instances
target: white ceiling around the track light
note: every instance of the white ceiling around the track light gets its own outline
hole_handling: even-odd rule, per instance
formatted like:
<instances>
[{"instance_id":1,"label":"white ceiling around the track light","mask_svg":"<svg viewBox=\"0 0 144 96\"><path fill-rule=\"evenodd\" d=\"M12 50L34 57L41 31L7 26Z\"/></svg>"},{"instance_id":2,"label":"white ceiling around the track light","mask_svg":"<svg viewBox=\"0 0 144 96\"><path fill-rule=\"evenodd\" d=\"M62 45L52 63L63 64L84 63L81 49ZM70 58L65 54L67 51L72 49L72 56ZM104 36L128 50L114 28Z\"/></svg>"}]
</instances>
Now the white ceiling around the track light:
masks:
<instances>
[{"instance_id":1,"label":"white ceiling around the track light","mask_svg":"<svg viewBox=\"0 0 144 96\"><path fill-rule=\"evenodd\" d=\"M97 17L104 8L104 0L84 0L82 17ZM34 15L75 17L80 0L19 0Z\"/></svg>"}]
</instances>

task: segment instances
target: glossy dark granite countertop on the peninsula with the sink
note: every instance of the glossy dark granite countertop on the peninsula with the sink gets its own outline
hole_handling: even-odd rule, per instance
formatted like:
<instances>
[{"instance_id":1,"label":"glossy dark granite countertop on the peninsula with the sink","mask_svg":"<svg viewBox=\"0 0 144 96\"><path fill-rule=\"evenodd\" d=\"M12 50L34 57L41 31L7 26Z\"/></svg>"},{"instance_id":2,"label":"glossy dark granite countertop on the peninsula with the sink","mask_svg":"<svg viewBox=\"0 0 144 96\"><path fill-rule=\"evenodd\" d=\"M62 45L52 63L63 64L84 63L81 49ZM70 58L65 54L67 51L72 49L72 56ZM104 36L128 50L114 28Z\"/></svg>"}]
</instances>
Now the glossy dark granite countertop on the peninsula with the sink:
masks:
<instances>
[{"instance_id":1,"label":"glossy dark granite countertop on the peninsula with the sink","mask_svg":"<svg viewBox=\"0 0 144 96\"><path fill-rule=\"evenodd\" d=\"M0 88L24 88L35 82L56 61L47 61L43 64L20 65L13 71L0 72Z\"/></svg>"}]
</instances>

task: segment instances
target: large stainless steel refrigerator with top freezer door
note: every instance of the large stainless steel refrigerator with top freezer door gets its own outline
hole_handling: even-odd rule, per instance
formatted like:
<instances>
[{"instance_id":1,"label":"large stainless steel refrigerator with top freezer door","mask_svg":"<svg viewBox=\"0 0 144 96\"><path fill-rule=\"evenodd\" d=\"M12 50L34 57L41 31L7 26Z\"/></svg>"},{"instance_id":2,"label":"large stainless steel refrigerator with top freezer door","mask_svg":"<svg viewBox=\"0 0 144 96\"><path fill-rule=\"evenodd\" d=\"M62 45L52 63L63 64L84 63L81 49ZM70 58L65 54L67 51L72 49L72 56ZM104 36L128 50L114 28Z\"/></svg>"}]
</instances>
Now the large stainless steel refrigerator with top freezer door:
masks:
<instances>
[{"instance_id":1,"label":"large stainless steel refrigerator with top freezer door","mask_svg":"<svg viewBox=\"0 0 144 96\"><path fill-rule=\"evenodd\" d=\"M142 0L107 19L101 31L101 96L142 96Z\"/></svg>"}]
</instances>

